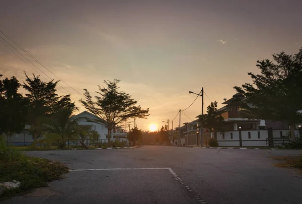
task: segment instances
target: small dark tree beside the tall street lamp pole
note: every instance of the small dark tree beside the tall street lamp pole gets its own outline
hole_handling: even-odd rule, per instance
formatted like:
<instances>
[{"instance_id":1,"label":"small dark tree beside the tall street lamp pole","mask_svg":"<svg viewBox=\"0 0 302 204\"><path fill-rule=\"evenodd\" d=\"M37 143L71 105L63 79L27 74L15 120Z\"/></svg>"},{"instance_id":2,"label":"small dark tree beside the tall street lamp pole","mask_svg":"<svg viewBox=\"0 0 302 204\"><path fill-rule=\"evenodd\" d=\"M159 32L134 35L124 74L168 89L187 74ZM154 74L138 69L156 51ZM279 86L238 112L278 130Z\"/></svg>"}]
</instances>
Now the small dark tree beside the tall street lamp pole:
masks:
<instances>
[{"instance_id":1,"label":"small dark tree beside the tall street lamp pole","mask_svg":"<svg viewBox=\"0 0 302 204\"><path fill-rule=\"evenodd\" d=\"M225 121L220 115L221 113L217 111L217 102L211 102L207 107L207 114L199 117L199 122L202 127L214 131L223 131Z\"/></svg>"}]
</instances>

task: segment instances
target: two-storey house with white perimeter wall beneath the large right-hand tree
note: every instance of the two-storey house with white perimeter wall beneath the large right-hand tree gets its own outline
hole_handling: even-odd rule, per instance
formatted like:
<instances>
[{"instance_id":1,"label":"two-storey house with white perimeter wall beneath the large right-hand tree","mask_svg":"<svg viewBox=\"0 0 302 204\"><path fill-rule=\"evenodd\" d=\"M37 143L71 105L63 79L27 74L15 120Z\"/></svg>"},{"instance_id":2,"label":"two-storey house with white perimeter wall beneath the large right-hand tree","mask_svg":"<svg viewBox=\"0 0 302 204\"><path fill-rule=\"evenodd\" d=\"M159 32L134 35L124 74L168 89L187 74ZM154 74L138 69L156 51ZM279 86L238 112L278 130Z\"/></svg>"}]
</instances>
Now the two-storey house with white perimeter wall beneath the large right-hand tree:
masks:
<instances>
[{"instance_id":1,"label":"two-storey house with white perimeter wall beneath the large right-hand tree","mask_svg":"<svg viewBox=\"0 0 302 204\"><path fill-rule=\"evenodd\" d=\"M244 100L244 96L235 94L222 103L225 106L217 110L226 122L224 132L216 132L216 135L212 133L219 146L280 145L289 132L289 126L279 121L244 118L238 103L240 100Z\"/></svg>"}]
</instances>

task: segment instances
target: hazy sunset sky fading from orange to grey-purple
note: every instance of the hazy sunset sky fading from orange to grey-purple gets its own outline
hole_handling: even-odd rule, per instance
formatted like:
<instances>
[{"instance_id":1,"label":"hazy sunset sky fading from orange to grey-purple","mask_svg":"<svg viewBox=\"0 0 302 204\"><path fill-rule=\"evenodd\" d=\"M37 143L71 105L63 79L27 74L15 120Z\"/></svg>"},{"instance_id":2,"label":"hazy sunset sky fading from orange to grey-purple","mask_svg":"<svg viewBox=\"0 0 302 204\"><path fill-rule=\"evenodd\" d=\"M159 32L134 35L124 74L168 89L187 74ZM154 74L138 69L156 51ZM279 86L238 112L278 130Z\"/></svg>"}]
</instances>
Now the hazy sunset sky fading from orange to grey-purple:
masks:
<instances>
[{"instance_id":1,"label":"hazy sunset sky fading from orange to grey-purple","mask_svg":"<svg viewBox=\"0 0 302 204\"><path fill-rule=\"evenodd\" d=\"M150 109L137 126L160 128L193 102L189 91L204 88L204 112L214 100L221 107L234 86L251 82L248 72L258 73L257 60L298 52L300 8L295 0L2 0L0 30L58 78L33 61L35 71L2 42L0 74L21 82L24 71L59 79L80 111L83 95L73 89L94 93L103 80L119 79L121 91ZM58 93L68 94L61 87ZM181 113L181 123L200 113L201 97Z\"/></svg>"}]
</instances>

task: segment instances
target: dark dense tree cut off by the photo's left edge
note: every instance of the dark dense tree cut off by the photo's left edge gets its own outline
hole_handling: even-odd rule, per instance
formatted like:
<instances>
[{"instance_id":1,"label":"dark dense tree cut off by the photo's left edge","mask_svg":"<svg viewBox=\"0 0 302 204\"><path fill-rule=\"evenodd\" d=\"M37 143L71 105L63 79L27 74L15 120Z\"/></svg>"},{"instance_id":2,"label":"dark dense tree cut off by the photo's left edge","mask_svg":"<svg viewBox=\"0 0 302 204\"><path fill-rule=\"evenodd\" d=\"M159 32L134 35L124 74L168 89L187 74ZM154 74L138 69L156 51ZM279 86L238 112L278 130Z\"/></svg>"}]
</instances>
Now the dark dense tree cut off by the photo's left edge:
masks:
<instances>
[{"instance_id":1,"label":"dark dense tree cut off by the photo's left edge","mask_svg":"<svg viewBox=\"0 0 302 204\"><path fill-rule=\"evenodd\" d=\"M24 129L28 101L18 93L20 86L16 77L0 80L0 135L11 137Z\"/></svg>"}]
</instances>

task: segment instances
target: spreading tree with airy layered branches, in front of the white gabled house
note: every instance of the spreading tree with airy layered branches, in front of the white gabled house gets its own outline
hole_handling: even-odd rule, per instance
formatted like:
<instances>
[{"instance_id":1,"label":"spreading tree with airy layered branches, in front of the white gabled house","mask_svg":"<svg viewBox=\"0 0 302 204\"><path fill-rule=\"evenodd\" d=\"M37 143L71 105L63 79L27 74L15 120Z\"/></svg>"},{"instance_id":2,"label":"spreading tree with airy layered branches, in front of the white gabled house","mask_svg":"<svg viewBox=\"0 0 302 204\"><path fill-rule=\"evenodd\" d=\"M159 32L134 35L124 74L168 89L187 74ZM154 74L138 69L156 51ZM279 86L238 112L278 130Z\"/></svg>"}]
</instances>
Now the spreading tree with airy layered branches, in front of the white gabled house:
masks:
<instances>
[{"instance_id":1,"label":"spreading tree with airy layered branches, in front of the white gabled house","mask_svg":"<svg viewBox=\"0 0 302 204\"><path fill-rule=\"evenodd\" d=\"M98 119L91 120L99 124L104 124L108 130L108 142L111 138L112 130L120 122L127 120L128 118L146 118L149 114L149 108L142 109L139 106L135 106L137 101L132 99L129 94L118 91L117 84L120 80L114 80L110 82L105 80L106 87L99 87L99 91L96 92L99 96L95 96L96 101L90 95L87 89L85 90L85 99L81 99L80 102L85 108L96 115Z\"/></svg>"}]
</instances>

